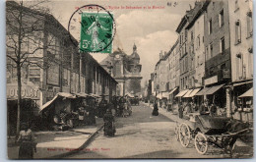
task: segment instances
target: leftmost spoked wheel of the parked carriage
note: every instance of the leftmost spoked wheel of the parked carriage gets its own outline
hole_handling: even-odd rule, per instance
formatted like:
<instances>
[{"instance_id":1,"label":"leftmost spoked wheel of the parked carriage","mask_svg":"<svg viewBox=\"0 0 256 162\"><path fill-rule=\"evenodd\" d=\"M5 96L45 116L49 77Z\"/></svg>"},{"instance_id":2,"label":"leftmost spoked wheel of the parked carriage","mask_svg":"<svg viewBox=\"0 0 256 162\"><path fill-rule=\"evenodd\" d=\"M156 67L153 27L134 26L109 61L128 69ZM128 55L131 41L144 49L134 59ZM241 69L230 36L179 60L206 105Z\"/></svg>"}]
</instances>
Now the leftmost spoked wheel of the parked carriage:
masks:
<instances>
[{"instance_id":1,"label":"leftmost spoked wheel of the parked carriage","mask_svg":"<svg viewBox=\"0 0 256 162\"><path fill-rule=\"evenodd\" d=\"M189 127L182 123L179 127L179 141L183 147L187 147L190 143L191 135Z\"/></svg>"}]
</instances>

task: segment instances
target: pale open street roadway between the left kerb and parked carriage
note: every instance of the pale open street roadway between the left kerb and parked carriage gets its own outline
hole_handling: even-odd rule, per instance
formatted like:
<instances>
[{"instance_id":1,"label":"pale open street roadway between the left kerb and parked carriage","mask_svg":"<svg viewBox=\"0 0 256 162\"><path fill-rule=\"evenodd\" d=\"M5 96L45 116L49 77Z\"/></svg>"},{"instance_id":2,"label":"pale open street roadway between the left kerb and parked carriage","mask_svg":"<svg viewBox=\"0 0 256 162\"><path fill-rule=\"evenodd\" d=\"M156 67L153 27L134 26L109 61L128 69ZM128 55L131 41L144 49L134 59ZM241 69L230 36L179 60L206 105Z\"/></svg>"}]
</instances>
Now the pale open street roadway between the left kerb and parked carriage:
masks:
<instances>
[{"instance_id":1,"label":"pale open street roadway between the left kerb and parked carriage","mask_svg":"<svg viewBox=\"0 0 256 162\"><path fill-rule=\"evenodd\" d=\"M101 132L86 149L69 158L224 158L220 148L211 147L209 153L197 153L194 141L188 148L181 146L174 135L175 122L164 115L152 116L152 109L141 104L133 106L131 117L118 118L116 135L107 137ZM173 117L173 115L172 115ZM174 117L174 119L176 119ZM245 151L245 150L244 150ZM247 148L248 151L248 148Z\"/></svg>"}]
</instances>

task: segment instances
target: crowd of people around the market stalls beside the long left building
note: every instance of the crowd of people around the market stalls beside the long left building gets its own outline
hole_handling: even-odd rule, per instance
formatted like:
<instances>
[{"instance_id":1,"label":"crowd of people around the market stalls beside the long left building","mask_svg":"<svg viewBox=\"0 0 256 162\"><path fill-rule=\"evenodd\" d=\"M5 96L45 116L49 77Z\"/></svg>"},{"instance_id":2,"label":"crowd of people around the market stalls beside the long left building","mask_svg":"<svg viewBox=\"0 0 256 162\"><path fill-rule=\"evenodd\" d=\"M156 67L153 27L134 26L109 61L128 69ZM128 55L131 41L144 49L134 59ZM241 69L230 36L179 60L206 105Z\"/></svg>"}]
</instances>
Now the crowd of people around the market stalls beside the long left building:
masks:
<instances>
[{"instance_id":1,"label":"crowd of people around the market stalls beside the long left building","mask_svg":"<svg viewBox=\"0 0 256 162\"><path fill-rule=\"evenodd\" d=\"M107 110L116 117L127 117L131 115L131 104L127 96L113 96L108 102L104 97L98 102L98 98L87 97L76 100L72 110L62 109L60 113L53 116L51 128L53 130L65 131L81 125L94 125L96 118L103 118Z\"/></svg>"}]
</instances>

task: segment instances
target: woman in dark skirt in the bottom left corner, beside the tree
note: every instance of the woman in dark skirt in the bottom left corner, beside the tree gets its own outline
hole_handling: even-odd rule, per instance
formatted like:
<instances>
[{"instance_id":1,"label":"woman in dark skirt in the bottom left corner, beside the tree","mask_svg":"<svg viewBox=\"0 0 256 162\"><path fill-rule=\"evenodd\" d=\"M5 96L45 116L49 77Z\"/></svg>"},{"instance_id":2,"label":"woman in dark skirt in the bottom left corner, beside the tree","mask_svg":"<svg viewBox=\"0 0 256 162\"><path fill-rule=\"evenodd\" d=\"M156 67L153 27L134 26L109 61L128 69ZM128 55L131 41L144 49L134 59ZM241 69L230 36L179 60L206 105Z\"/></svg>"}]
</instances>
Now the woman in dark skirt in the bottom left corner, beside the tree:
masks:
<instances>
[{"instance_id":1,"label":"woman in dark skirt in the bottom left corner, beside the tree","mask_svg":"<svg viewBox=\"0 0 256 162\"><path fill-rule=\"evenodd\" d=\"M19 159L32 159L33 151L36 152L36 142L28 124L22 124L17 141L20 142Z\"/></svg>"}]
</instances>

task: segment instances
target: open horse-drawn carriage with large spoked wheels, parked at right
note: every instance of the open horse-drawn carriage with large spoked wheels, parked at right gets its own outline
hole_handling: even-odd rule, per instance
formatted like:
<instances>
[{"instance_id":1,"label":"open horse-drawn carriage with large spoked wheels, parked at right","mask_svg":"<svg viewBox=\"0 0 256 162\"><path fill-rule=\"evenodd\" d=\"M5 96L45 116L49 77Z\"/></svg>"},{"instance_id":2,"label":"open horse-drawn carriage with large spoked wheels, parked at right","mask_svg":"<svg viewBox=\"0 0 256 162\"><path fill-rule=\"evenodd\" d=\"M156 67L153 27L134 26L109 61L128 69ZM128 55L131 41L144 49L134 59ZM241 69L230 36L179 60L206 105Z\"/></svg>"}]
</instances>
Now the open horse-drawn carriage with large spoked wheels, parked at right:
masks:
<instances>
[{"instance_id":1,"label":"open horse-drawn carriage with large spoked wheels, parked at right","mask_svg":"<svg viewBox=\"0 0 256 162\"><path fill-rule=\"evenodd\" d=\"M175 135L184 147L188 147L194 139L195 148L200 154L205 154L209 145L214 145L232 155L236 139L252 137L253 128L249 123L227 117L194 114L190 120L176 123Z\"/></svg>"}]
</instances>

